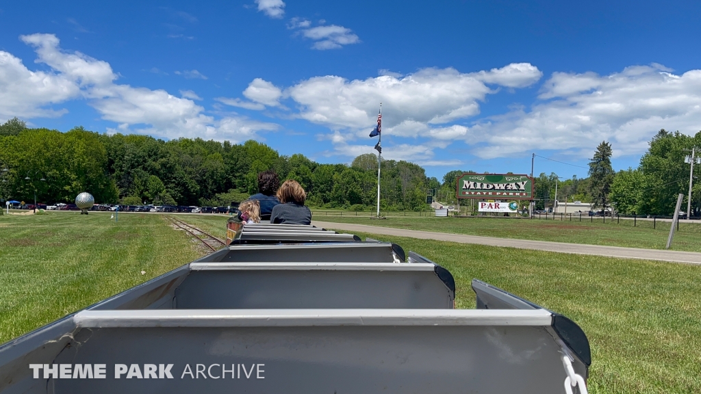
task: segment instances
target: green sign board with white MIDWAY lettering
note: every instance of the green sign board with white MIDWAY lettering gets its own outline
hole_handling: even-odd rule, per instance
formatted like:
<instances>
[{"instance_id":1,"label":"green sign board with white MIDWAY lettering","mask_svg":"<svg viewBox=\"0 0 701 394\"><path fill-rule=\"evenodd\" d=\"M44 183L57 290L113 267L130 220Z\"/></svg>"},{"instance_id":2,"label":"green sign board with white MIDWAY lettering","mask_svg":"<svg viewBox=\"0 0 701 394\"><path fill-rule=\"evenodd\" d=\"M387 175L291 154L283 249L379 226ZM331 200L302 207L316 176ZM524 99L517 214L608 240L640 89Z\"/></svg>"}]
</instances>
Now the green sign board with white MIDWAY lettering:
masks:
<instances>
[{"instance_id":1,"label":"green sign board with white MIDWAY lettering","mask_svg":"<svg viewBox=\"0 0 701 394\"><path fill-rule=\"evenodd\" d=\"M458 177L458 198L532 200L533 179L519 174L468 174Z\"/></svg>"}]
</instances>

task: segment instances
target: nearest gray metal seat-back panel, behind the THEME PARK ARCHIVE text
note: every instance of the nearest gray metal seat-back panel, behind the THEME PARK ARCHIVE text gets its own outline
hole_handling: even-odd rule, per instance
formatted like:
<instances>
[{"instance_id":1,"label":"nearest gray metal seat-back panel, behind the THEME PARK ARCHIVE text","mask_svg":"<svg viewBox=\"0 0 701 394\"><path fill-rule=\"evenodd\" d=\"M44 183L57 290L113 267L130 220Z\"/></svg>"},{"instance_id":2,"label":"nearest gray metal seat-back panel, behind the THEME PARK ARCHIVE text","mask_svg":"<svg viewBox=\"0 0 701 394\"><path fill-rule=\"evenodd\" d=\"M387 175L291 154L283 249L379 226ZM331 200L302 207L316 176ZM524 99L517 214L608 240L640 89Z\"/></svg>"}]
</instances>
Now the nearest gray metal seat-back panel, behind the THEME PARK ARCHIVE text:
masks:
<instances>
[{"instance_id":1,"label":"nearest gray metal seat-back panel, behind the THEME PARK ARCHIVE text","mask_svg":"<svg viewBox=\"0 0 701 394\"><path fill-rule=\"evenodd\" d=\"M49 379L53 393L561 394L566 377L543 327L93 328L85 337L55 362L107 362L107 379ZM114 363L173 364L174 379L113 379ZM197 364L197 379L183 375ZM222 364L261 364L264 379L212 379Z\"/></svg>"}]
</instances>

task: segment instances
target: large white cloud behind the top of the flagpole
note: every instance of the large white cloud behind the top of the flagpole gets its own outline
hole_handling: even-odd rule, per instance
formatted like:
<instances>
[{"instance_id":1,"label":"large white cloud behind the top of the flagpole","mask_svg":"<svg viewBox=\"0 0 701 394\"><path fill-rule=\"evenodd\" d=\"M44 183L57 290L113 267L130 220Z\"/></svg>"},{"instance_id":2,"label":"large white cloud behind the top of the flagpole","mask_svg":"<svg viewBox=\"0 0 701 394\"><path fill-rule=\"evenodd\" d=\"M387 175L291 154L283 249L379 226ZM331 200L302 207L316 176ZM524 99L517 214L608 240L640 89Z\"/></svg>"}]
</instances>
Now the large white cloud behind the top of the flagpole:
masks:
<instances>
[{"instance_id":1,"label":"large white cloud behind the top of the flagpole","mask_svg":"<svg viewBox=\"0 0 701 394\"><path fill-rule=\"evenodd\" d=\"M494 83L535 83L539 72L534 73L536 68L531 67L507 66L509 78L494 79ZM525 75L517 76L519 70ZM382 102L383 128L390 134L409 137L428 130L432 124L479 114L479 102L496 93L486 86L484 78L484 73L461 73L452 68L421 69L401 78L377 76L353 81L317 76L287 88L285 93L301 105L301 118L332 129L367 128L368 133Z\"/></svg>"}]
</instances>

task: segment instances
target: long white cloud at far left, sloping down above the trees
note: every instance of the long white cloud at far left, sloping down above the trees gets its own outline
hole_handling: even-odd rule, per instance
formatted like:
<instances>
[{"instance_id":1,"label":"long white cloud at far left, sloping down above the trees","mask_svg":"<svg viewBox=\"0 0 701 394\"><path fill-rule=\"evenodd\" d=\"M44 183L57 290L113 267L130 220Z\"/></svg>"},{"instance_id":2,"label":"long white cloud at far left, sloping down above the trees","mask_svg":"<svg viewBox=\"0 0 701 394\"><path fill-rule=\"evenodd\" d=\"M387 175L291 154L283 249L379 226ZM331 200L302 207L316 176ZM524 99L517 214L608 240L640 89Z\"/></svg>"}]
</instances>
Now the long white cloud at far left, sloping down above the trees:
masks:
<instances>
[{"instance_id":1,"label":"long white cloud at far left, sloping down above the trees","mask_svg":"<svg viewBox=\"0 0 701 394\"><path fill-rule=\"evenodd\" d=\"M34 46L36 62L47 64L51 72L32 72L13 55L0 51L0 116L57 116L64 109L48 109L82 97L104 120L118 123L118 129L158 137L203 137L233 142L247 140L258 131L276 130L278 125L253 121L243 116L215 119L183 90L175 97L165 90L151 90L114 83L117 75L107 62L79 52L60 49L53 34L20 37ZM132 128L132 126L139 128Z\"/></svg>"}]
</instances>

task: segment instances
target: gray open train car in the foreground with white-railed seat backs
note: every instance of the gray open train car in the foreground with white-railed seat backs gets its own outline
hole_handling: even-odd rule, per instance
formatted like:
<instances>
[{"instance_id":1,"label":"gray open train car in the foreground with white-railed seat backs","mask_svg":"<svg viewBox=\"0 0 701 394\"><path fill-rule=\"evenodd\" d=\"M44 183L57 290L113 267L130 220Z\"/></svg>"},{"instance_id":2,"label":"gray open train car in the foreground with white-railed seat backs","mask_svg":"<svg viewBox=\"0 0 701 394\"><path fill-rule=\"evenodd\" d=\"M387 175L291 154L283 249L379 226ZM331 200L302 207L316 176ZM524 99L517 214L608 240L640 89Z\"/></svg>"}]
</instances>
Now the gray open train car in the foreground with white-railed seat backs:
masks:
<instances>
[{"instance_id":1,"label":"gray open train car in the foreground with white-railed seat backs","mask_svg":"<svg viewBox=\"0 0 701 394\"><path fill-rule=\"evenodd\" d=\"M478 280L453 309L399 251L227 247L0 346L0 393L585 392L574 322Z\"/></svg>"}]
</instances>

